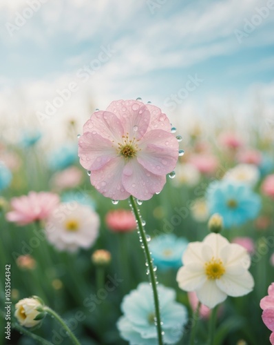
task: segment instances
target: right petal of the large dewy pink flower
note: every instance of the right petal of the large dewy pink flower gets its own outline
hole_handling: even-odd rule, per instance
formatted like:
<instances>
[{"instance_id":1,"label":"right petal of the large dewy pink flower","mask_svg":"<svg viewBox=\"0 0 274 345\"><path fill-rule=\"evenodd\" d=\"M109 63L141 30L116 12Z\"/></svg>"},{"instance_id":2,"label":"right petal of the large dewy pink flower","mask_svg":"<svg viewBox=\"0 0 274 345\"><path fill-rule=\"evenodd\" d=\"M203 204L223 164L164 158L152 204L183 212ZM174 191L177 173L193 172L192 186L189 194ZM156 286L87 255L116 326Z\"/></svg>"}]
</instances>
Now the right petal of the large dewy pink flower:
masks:
<instances>
[{"instance_id":1,"label":"right petal of the large dewy pink flower","mask_svg":"<svg viewBox=\"0 0 274 345\"><path fill-rule=\"evenodd\" d=\"M178 161L178 140L164 130L151 130L141 139L138 162L156 175L167 175Z\"/></svg>"}]
</instances>

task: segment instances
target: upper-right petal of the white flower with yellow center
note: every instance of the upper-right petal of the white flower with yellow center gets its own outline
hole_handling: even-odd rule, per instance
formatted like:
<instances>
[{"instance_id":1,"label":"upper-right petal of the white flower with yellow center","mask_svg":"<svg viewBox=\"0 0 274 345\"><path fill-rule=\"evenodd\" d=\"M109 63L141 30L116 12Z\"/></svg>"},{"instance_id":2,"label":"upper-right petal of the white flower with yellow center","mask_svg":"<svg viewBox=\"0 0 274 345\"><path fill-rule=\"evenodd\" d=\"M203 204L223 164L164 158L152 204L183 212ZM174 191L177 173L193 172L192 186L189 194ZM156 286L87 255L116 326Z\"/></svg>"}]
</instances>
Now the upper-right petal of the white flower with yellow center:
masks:
<instances>
[{"instance_id":1,"label":"upper-right petal of the white flower with yellow center","mask_svg":"<svg viewBox=\"0 0 274 345\"><path fill-rule=\"evenodd\" d=\"M250 255L247 253L246 248L240 246L240 244L230 244L220 250L220 258L224 262L225 266L239 265L244 268L249 268L251 264Z\"/></svg>"}]
</instances>

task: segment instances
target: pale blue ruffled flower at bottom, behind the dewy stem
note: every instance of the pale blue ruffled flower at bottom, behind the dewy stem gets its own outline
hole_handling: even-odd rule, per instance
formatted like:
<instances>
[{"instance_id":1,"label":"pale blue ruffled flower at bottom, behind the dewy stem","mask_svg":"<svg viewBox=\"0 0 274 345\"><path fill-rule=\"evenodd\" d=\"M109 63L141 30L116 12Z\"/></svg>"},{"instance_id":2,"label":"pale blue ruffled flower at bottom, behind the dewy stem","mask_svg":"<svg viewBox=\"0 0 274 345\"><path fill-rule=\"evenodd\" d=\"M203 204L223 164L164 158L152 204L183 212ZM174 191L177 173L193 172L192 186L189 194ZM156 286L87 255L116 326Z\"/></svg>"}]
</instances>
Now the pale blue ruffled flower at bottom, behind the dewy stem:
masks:
<instances>
[{"instance_id":1,"label":"pale blue ruffled flower at bottom, behind the dewy stem","mask_svg":"<svg viewBox=\"0 0 274 345\"><path fill-rule=\"evenodd\" d=\"M175 301L171 288L158 285L162 331L165 344L175 344L182 337L182 328L187 322L187 308ZM131 345L157 345L157 331L154 324L154 298L149 283L140 283L136 290L126 295L121 304L124 313L118 319L120 336Z\"/></svg>"}]
</instances>

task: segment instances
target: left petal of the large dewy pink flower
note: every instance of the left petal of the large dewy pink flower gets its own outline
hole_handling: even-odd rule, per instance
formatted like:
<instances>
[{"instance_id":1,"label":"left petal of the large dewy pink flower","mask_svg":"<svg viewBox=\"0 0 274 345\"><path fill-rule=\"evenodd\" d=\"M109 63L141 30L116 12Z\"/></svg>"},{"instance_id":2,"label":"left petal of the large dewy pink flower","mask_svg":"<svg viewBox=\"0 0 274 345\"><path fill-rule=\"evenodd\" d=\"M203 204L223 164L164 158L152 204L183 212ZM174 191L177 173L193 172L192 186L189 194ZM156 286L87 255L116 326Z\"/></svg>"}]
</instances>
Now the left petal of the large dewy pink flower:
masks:
<instances>
[{"instance_id":1,"label":"left petal of the large dewy pink flower","mask_svg":"<svg viewBox=\"0 0 274 345\"><path fill-rule=\"evenodd\" d=\"M117 156L116 148L109 139L96 132L85 132L78 141L78 156L87 170L97 170Z\"/></svg>"}]
</instances>

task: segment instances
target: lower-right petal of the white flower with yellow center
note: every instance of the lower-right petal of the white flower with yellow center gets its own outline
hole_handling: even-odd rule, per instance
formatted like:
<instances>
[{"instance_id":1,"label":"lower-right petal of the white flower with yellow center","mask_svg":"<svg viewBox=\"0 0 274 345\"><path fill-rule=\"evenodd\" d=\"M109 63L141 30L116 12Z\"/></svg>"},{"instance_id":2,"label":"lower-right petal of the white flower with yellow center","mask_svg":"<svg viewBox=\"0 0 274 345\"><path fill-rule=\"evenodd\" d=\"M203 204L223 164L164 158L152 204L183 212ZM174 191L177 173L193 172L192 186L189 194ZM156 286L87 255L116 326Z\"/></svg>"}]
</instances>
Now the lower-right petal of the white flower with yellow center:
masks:
<instances>
[{"instance_id":1,"label":"lower-right petal of the white flower with yellow center","mask_svg":"<svg viewBox=\"0 0 274 345\"><path fill-rule=\"evenodd\" d=\"M220 279L216 279L216 284L220 290L224 291L229 296L238 297L250 293L254 286L254 279L248 270L245 270L242 275L232 271L224 273Z\"/></svg>"}]
</instances>

